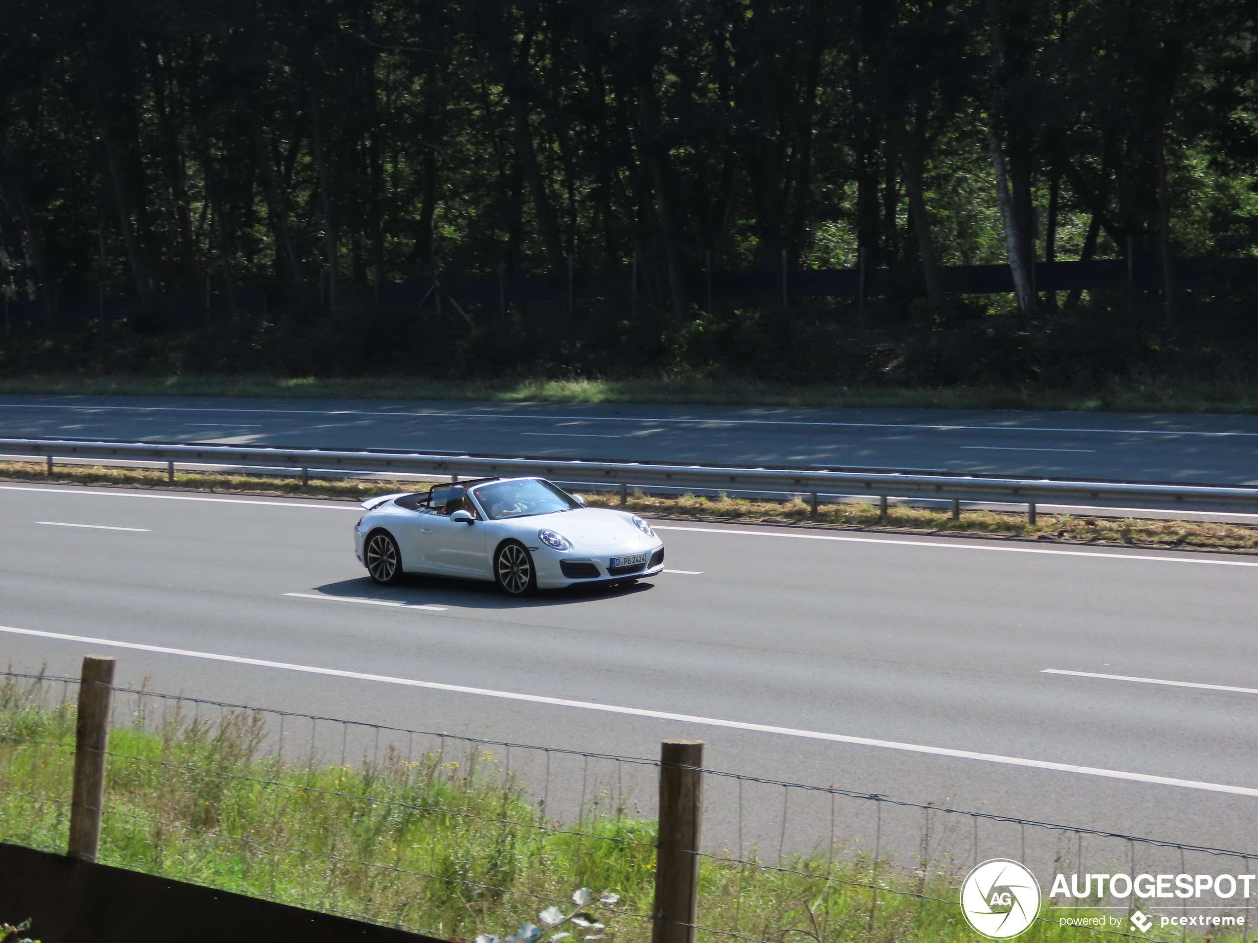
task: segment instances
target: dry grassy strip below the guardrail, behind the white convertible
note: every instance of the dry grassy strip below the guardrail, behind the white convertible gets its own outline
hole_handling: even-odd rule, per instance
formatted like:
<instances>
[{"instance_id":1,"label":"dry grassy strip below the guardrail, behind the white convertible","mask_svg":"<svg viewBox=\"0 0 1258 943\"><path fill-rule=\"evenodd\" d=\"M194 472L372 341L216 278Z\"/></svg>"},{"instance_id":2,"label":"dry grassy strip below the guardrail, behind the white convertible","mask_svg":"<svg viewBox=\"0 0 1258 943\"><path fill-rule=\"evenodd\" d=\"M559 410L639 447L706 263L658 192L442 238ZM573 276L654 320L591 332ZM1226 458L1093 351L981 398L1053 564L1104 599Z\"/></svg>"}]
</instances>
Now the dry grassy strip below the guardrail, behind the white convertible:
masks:
<instances>
[{"instance_id":1,"label":"dry grassy strip below the guardrail, behind the white convertible","mask_svg":"<svg viewBox=\"0 0 1258 943\"><path fill-rule=\"evenodd\" d=\"M153 488L204 490L221 494L257 494L270 497L312 497L340 500L364 500L376 494L419 492L430 482L386 482L361 478L299 478L218 472L175 472L167 480L164 469L130 469L104 465L54 465L53 475L44 463L0 461L0 480L39 482L47 484L113 485L121 488ZM586 492L590 507L619 508L619 494ZM1194 521L1155 521L1141 518L1103 518L1072 514L1039 514L1035 524L1025 513L1005 510L964 510L957 521L947 510L889 503L887 517L878 507L867 503L821 504L815 517L800 498L789 500L752 500L727 497L652 497L642 492L629 495L628 510L649 517L684 521L737 522L743 524L776 524L790 527L838 528L845 531L883 531L955 537L1004 537L1110 547L1144 547L1156 549L1227 551L1258 553L1258 526L1218 524Z\"/></svg>"}]
</instances>

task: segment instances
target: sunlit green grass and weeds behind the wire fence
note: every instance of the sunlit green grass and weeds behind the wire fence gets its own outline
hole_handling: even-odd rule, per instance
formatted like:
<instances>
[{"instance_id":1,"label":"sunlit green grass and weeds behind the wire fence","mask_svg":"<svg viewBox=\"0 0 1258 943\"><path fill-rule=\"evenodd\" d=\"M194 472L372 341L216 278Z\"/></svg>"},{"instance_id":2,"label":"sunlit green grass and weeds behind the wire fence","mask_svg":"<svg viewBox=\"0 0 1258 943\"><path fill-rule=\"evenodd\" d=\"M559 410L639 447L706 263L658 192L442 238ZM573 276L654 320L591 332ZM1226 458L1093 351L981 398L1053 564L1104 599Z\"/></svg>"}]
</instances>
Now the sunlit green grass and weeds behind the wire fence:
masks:
<instances>
[{"instance_id":1,"label":"sunlit green grass and weeds behind the wire fence","mask_svg":"<svg viewBox=\"0 0 1258 943\"><path fill-rule=\"evenodd\" d=\"M33 690L0 688L0 839L59 851L74 709L44 705ZM248 712L116 727L101 860L453 939L511 932L577 886L618 893L630 914L650 910L654 822L624 797L556 822L486 752L408 761L390 751L377 763L326 764L267 754L263 738ZM704 860L699 923L775 943L975 939L950 903L954 876L923 879L868 855L830 860L833 850L771 863L790 871ZM644 919L591 909L613 939L649 939ZM1020 939L1094 937L1043 920Z\"/></svg>"}]
</instances>

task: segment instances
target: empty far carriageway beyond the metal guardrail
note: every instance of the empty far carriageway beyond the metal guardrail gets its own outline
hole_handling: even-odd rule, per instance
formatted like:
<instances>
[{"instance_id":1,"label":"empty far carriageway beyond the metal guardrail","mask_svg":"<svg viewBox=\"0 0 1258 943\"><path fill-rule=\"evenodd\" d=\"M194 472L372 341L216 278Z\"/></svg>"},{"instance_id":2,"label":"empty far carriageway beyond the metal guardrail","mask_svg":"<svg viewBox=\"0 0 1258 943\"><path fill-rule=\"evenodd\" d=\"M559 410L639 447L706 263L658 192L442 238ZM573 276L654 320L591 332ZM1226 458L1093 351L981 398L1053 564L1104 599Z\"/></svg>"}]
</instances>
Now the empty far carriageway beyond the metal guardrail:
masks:
<instances>
[{"instance_id":1,"label":"empty far carriageway beyond the metal guardrail","mask_svg":"<svg viewBox=\"0 0 1258 943\"><path fill-rule=\"evenodd\" d=\"M1258 416L11 395L0 435L1258 482Z\"/></svg>"}]
</instances>

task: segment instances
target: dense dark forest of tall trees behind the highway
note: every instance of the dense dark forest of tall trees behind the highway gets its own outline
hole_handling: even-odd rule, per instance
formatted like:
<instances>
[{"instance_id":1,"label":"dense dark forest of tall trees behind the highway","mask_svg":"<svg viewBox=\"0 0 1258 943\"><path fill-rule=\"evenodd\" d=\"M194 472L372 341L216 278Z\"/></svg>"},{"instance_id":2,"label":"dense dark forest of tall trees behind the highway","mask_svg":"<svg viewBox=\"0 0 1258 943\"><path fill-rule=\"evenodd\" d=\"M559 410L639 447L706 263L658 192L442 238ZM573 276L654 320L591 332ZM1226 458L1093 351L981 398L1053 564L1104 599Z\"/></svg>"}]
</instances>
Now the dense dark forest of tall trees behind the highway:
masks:
<instances>
[{"instance_id":1,"label":"dense dark forest of tall trees behind the highway","mask_svg":"<svg viewBox=\"0 0 1258 943\"><path fill-rule=\"evenodd\" d=\"M829 332L842 356L793 376L834 380L907 362L908 339L944 356L926 334L961 322L970 341L1003 332L1001 351L1073 343L1081 312L1127 352L1093 372L1175 343L1209 367L1220 338L1248 343L1233 334L1258 302L1177 290L1169 264L1258 254L1250 0L8 0L0 24L0 283L50 321L59 299L126 294L132 333L153 334L167 295L306 285L320 312L289 347L322 331L340 351L353 323L419 323L351 304L370 298L356 288L640 265L660 273L658 311L624 324L625 299L586 306L587 348L645 332L633 368L764 373L782 353L764 337ZM1099 258L1165 277L1123 299L1035 288L1035 262ZM859 323L843 306L712 312L682 278L858 260L915 272L913 298ZM944 267L976 263L1009 265L1014 293L949 295ZM493 319L499 346L528 347L572 327L542 308L447 306L431 329L474 348ZM996 327L1010 317L1030 339ZM283 319L219 326L235 339L200 367ZM60 342L65 366L113 350L106 327L125 326ZM503 370L606 368L478 350ZM33 356L10 341L0 363ZM277 368L372 368L311 356Z\"/></svg>"}]
</instances>

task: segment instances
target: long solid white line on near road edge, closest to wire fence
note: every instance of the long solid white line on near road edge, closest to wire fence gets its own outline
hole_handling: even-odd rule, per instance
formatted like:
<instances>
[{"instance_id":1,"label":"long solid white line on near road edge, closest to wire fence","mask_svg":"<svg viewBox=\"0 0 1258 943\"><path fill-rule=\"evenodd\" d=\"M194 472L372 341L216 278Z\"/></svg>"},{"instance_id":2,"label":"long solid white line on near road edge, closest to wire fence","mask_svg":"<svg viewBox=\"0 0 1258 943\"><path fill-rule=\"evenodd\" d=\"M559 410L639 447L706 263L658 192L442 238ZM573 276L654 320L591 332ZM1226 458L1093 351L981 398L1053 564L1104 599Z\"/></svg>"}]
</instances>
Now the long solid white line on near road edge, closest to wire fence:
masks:
<instances>
[{"instance_id":1,"label":"long solid white line on near road edge, closest to wire fence","mask_svg":"<svg viewBox=\"0 0 1258 943\"><path fill-rule=\"evenodd\" d=\"M1146 782L1156 786L1179 786L1189 790L1204 790L1208 792L1230 792L1238 796L1258 796L1258 790L1245 786L1227 786L1216 782L1198 782L1196 780L1177 780L1170 776L1150 776L1147 773L1130 773L1120 769L1102 769L1092 766L1076 766L1074 763L1053 763L1047 759L1025 759L1023 757L1005 757L996 753L975 753L967 749L949 749L946 747L923 747L916 743L897 743L896 741L879 741L869 737L848 737L840 733L823 733L819 731L799 731L793 727L774 727L771 724L752 724L741 720L721 720L713 717L694 717L692 714L674 714L667 710L647 710L644 708L618 707L615 704L598 704L587 700L567 700L566 698L547 698L540 694L518 694L516 692L492 690L489 688L468 688L462 684L440 684L438 681L418 681L410 678L392 678L390 675L366 674L364 671L345 671L336 668L314 668L312 665L294 665L287 661L268 661L258 658L243 658L240 655L216 655L209 651L191 651L189 649L170 649L162 645L141 645L133 641L117 641L113 639L93 639L87 635L67 635L64 632L44 632L35 629L14 629L13 626L0 626L0 632L14 635L30 635L39 639L55 639L58 641L75 641L87 645L108 645L120 649L133 649L137 651L153 651L160 655L180 655L184 658L201 658L210 661L230 661L239 665L254 665L257 668L277 668L286 671L303 671L306 674L331 675L333 678L352 678L362 681L380 681L384 684L401 684L409 688L426 688L430 690L453 692L455 694L477 694L486 698L503 698L506 700L523 700L533 704L548 704L552 707L581 708L584 710L601 710L609 714L629 714L632 717L648 717L657 720L679 720L682 723L702 724L706 727L726 727L736 731L752 731L756 733L776 733L785 737L803 737L815 741L829 741L832 743L850 743L859 747L881 747L883 749L899 749L908 753L927 753L940 757L954 757L957 759L979 759L986 763L1004 763L1006 766L1030 767L1033 769L1050 769L1063 773L1082 773L1084 776L1103 776L1110 780L1127 780L1131 782Z\"/></svg>"}]
</instances>

